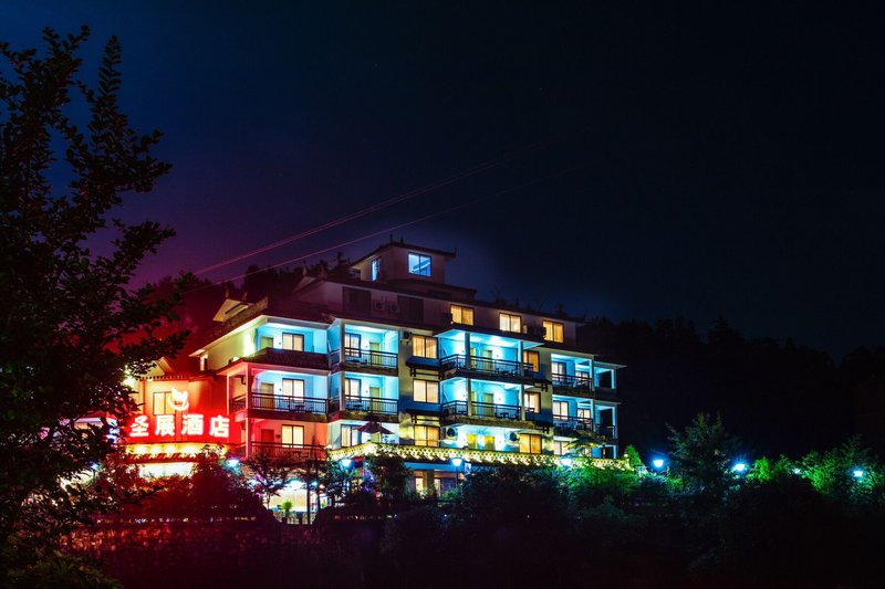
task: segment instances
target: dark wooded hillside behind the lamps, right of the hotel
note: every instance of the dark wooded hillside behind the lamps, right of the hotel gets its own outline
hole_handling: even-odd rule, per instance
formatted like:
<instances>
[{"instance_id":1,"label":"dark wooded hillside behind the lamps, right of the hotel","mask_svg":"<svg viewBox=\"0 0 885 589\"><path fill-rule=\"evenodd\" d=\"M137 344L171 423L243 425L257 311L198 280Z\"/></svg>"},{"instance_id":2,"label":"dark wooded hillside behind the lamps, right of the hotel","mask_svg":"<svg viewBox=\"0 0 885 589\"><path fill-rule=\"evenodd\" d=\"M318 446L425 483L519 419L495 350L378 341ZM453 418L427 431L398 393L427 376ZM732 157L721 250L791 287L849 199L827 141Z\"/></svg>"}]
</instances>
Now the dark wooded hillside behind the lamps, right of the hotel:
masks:
<instances>
[{"instance_id":1,"label":"dark wooded hillside behind the lamps, right of the hotel","mask_svg":"<svg viewBox=\"0 0 885 589\"><path fill-rule=\"evenodd\" d=\"M885 452L885 348L827 354L748 339L720 318L700 334L686 319L591 320L586 348L627 365L618 372L621 439L643 457L666 448L667 427L720 413L751 455L798 456L860 434Z\"/></svg>"}]
</instances>

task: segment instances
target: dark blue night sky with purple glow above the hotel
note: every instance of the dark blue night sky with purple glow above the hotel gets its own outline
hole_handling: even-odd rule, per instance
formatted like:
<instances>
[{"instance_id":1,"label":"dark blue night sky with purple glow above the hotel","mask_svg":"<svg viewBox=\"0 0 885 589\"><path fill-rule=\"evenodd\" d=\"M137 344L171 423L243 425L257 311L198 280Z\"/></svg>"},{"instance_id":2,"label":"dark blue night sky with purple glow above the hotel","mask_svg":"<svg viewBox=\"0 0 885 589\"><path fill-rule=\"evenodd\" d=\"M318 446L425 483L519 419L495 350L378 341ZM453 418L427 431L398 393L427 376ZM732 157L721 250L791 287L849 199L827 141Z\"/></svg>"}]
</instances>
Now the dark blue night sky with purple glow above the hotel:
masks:
<instances>
[{"instance_id":1,"label":"dark blue night sky with purple glow above the hotel","mask_svg":"<svg viewBox=\"0 0 885 589\"><path fill-rule=\"evenodd\" d=\"M885 344L882 13L361 4L4 2L0 38L88 24L91 70L121 38L125 108L174 164L122 213L178 231L145 277L489 162L248 262L384 232L358 254L485 199L394 233L457 246L452 282L487 298L701 328L721 314L836 355Z\"/></svg>"}]
</instances>

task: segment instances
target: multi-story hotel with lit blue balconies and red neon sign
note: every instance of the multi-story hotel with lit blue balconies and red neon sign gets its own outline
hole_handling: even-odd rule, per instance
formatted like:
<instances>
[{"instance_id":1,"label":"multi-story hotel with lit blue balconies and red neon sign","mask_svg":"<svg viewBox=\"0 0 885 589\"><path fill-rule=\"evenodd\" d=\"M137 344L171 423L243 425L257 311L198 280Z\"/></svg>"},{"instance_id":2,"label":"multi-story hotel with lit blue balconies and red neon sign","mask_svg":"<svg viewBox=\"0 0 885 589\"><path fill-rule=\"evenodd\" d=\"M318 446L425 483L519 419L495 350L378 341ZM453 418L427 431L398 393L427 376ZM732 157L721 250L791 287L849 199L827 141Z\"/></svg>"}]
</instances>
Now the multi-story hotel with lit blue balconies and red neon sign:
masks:
<instances>
[{"instance_id":1,"label":"multi-story hotel with lit blue balconies and red neon sign","mask_svg":"<svg viewBox=\"0 0 885 589\"><path fill-rule=\"evenodd\" d=\"M227 301L192 354L198 372L140 385L145 439L129 431L129 445L173 462L199 441L240 457L383 449L406 460L417 491L438 492L470 464L615 457L621 366L576 347L579 319L448 284L452 259L391 242L284 298Z\"/></svg>"}]
</instances>

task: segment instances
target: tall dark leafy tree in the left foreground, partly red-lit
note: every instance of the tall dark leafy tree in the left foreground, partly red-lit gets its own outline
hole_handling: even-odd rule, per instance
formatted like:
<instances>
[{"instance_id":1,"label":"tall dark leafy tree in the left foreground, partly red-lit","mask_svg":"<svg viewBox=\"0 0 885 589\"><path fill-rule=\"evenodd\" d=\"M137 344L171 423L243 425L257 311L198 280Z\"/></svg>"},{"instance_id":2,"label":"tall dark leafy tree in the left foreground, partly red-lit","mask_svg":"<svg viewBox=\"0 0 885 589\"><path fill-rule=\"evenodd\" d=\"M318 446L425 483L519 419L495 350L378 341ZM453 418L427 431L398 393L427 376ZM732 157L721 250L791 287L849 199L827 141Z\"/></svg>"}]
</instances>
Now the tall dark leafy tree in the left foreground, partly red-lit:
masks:
<instances>
[{"instance_id":1,"label":"tall dark leafy tree in the left foreground, partly red-lit","mask_svg":"<svg viewBox=\"0 0 885 589\"><path fill-rule=\"evenodd\" d=\"M175 319L177 291L129 286L173 232L108 219L124 193L168 171L150 155L159 133L139 135L119 111L115 38L97 84L79 80L87 36L45 30L43 55L0 43L11 73L0 76L0 543L19 535L21 550L48 549L107 498L80 473L112 451L114 421L134 410L124 377L184 339L155 334ZM105 235L115 235L107 246ZM85 417L94 419L77 423Z\"/></svg>"}]
</instances>

